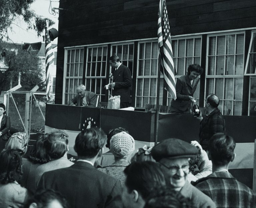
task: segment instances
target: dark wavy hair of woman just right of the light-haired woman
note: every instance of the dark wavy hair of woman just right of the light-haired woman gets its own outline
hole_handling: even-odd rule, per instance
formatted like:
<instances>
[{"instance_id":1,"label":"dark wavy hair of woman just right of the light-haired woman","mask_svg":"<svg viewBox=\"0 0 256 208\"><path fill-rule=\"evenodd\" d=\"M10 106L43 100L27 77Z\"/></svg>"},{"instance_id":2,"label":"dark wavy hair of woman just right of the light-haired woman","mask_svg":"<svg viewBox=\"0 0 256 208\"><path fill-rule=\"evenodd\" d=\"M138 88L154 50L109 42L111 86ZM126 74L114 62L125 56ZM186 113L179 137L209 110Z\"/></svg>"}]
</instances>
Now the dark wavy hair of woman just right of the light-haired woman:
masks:
<instances>
[{"instance_id":1,"label":"dark wavy hair of woman just right of the light-haired woman","mask_svg":"<svg viewBox=\"0 0 256 208\"><path fill-rule=\"evenodd\" d=\"M44 141L45 136L39 136L32 150L30 151L30 155L28 156L29 161L40 164L44 164L46 162L51 161L51 157L46 153Z\"/></svg>"}]
</instances>

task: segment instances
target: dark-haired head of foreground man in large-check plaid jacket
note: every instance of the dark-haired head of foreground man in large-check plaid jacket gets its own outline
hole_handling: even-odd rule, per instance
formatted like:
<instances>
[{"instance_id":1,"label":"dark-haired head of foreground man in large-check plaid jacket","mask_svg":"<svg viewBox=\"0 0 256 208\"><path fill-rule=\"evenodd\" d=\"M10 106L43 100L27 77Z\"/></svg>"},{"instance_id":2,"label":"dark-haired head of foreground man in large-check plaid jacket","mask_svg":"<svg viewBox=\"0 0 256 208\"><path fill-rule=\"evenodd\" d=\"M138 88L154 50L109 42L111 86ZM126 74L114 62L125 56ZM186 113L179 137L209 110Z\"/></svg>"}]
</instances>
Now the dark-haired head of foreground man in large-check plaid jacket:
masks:
<instances>
[{"instance_id":1,"label":"dark-haired head of foreground man in large-check plaid jacket","mask_svg":"<svg viewBox=\"0 0 256 208\"><path fill-rule=\"evenodd\" d=\"M209 152L215 165L227 165L234 160L236 143L231 136L223 133L214 134L209 143Z\"/></svg>"}]
</instances>

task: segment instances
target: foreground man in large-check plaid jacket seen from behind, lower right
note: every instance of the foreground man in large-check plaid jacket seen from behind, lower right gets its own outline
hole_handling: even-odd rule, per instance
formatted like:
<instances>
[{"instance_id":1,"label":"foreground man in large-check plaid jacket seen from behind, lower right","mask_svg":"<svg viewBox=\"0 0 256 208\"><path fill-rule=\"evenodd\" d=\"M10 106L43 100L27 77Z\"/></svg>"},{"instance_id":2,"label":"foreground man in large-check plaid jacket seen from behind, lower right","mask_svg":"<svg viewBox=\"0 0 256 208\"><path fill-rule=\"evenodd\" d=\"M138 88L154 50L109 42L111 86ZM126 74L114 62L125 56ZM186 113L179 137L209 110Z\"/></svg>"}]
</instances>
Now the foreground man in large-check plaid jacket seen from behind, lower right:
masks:
<instances>
[{"instance_id":1,"label":"foreground man in large-check plaid jacket seen from behind, lower right","mask_svg":"<svg viewBox=\"0 0 256 208\"><path fill-rule=\"evenodd\" d=\"M209 142L209 159L213 173L195 182L196 188L208 195L219 208L255 208L256 193L237 181L228 166L236 156L232 137L217 133Z\"/></svg>"}]
</instances>

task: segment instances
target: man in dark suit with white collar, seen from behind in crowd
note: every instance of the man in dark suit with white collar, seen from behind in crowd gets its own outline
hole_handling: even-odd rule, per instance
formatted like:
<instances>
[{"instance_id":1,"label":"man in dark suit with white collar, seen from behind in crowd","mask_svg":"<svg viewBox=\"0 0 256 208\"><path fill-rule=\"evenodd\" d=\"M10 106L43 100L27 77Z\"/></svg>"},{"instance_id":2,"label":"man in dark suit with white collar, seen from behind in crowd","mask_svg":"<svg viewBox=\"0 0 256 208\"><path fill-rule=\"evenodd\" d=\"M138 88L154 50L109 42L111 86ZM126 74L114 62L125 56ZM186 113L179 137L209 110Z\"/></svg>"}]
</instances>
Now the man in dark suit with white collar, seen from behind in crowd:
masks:
<instances>
[{"instance_id":1,"label":"man in dark suit with white collar, seen from behind in crowd","mask_svg":"<svg viewBox=\"0 0 256 208\"><path fill-rule=\"evenodd\" d=\"M72 208L122 208L120 181L94 167L105 141L106 136L101 129L90 128L80 132L74 146L78 155L76 163L45 172L37 190L50 188L59 191Z\"/></svg>"}]
</instances>

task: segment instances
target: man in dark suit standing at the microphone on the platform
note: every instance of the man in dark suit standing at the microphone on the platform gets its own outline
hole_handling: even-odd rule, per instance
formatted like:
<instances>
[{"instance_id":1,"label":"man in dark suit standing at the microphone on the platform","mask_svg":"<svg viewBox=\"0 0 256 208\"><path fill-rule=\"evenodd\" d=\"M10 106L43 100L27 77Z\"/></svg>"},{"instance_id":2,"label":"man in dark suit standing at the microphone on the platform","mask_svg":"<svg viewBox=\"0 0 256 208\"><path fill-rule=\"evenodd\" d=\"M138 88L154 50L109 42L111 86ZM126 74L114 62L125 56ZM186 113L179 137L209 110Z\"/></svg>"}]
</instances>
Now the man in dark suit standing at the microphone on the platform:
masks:
<instances>
[{"instance_id":1,"label":"man in dark suit standing at the microphone on the platform","mask_svg":"<svg viewBox=\"0 0 256 208\"><path fill-rule=\"evenodd\" d=\"M112 87L112 95L120 95L120 108L130 107L130 87L132 86L132 75L128 67L120 63L119 57L113 55L109 58L112 68L113 83L107 85L107 89Z\"/></svg>"}]
</instances>

